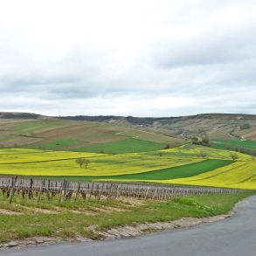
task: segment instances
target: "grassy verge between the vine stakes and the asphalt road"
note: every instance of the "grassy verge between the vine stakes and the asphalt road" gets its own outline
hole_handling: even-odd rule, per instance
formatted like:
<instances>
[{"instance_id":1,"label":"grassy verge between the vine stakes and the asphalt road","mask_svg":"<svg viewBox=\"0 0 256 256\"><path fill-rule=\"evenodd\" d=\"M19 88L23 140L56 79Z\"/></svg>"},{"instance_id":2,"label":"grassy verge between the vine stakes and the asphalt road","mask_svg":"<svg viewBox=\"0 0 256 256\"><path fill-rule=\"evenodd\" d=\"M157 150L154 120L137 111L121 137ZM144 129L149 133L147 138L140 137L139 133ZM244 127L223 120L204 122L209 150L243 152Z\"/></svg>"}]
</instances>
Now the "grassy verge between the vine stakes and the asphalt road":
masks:
<instances>
[{"instance_id":1,"label":"grassy verge between the vine stakes and the asphalt road","mask_svg":"<svg viewBox=\"0 0 256 256\"><path fill-rule=\"evenodd\" d=\"M104 231L120 225L154 223L184 217L210 217L231 211L239 200L250 195L253 193L179 197L164 202L140 201L139 203L125 200L87 202L81 198L76 203L73 201L59 203L58 199L47 201L46 198L42 198L39 204L19 196L14 197L13 204L9 204L7 199L1 196L1 209L17 211L21 215L0 213L0 242L33 236L62 239L83 236L100 239L90 230L90 226L97 225L97 230ZM46 214L40 211L35 213L35 209L49 209L52 213Z\"/></svg>"}]
</instances>

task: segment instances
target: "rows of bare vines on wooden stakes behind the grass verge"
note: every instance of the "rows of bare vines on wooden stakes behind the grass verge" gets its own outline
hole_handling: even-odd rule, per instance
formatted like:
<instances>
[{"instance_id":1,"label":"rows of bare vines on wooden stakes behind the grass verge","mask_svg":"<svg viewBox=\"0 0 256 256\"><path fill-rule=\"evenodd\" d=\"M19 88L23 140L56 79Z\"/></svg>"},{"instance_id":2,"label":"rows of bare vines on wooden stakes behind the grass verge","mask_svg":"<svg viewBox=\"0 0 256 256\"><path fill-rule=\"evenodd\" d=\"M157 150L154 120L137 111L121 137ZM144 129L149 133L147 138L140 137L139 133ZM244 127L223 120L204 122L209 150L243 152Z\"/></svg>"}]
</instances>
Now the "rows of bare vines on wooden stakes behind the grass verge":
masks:
<instances>
[{"instance_id":1,"label":"rows of bare vines on wooden stakes behind the grass verge","mask_svg":"<svg viewBox=\"0 0 256 256\"><path fill-rule=\"evenodd\" d=\"M213 194L213 193L235 193L241 190L220 188L182 188L164 186L157 184L142 183L109 183L109 182L74 182L59 181L53 179L34 179L23 177L0 177L0 189L3 195L12 198L16 194L30 199L36 198L39 202L42 197L51 199L59 197L59 202L64 200L76 201L79 197L85 200L91 199L115 199L117 197L136 197L142 199L164 200L172 197L183 197L190 195Z\"/></svg>"}]
</instances>

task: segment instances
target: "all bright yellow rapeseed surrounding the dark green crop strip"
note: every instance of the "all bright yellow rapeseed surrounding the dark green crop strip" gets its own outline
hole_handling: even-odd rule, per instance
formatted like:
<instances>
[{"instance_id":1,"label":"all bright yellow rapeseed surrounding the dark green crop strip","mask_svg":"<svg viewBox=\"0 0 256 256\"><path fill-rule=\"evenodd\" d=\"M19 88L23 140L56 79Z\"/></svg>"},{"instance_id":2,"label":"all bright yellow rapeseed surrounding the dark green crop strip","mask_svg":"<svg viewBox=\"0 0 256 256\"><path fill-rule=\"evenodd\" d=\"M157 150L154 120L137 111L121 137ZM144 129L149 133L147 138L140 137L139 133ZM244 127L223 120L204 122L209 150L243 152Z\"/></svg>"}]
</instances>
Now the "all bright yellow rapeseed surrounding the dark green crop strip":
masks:
<instances>
[{"instance_id":1,"label":"all bright yellow rapeseed surrounding the dark green crop strip","mask_svg":"<svg viewBox=\"0 0 256 256\"><path fill-rule=\"evenodd\" d=\"M0 174L24 176L118 176L140 174L152 170L182 166L203 161L201 153L207 158L229 159L233 152L201 148L180 147L165 149L163 156L157 152L127 153L107 155L70 151L50 151L36 149L0 149ZM147 180L155 183L175 183L239 189L256 189L256 162L252 156L239 154L238 161L204 172L200 175L170 180ZM86 168L75 163L76 158L90 160ZM178 170L176 170L178 171ZM132 182L133 180L128 180ZM134 180L135 181L135 180ZM140 178L142 182L143 179Z\"/></svg>"}]
</instances>

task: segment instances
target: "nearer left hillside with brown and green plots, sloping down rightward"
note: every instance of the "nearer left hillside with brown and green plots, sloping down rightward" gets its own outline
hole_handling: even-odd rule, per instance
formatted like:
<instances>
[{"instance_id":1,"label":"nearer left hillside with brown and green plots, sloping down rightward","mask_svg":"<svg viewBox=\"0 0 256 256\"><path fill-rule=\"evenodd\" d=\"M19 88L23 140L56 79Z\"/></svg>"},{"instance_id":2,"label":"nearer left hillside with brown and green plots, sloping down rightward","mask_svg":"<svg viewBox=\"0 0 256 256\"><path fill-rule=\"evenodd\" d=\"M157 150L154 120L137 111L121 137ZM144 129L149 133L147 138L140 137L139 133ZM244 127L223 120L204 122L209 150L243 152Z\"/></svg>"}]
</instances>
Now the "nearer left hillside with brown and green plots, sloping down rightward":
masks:
<instances>
[{"instance_id":1,"label":"nearer left hillside with brown and green plots, sloping down rightward","mask_svg":"<svg viewBox=\"0 0 256 256\"><path fill-rule=\"evenodd\" d=\"M183 140L133 126L56 118L0 119L0 146L106 153L163 149Z\"/></svg>"}]
</instances>

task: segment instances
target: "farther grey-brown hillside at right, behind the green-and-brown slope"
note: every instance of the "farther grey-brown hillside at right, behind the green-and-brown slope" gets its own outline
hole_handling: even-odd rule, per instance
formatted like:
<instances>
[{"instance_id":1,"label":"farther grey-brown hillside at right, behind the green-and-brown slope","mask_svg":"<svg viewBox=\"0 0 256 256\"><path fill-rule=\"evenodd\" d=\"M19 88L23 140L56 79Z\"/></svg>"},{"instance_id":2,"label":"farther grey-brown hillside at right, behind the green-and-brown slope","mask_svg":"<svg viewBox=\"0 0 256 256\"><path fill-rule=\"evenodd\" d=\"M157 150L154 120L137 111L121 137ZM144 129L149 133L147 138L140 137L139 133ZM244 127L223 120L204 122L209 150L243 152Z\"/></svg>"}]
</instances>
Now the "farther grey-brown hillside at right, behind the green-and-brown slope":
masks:
<instances>
[{"instance_id":1,"label":"farther grey-brown hillside at right, behind the green-and-brown slope","mask_svg":"<svg viewBox=\"0 0 256 256\"><path fill-rule=\"evenodd\" d=\"M209 135L212 139L256 139L255 114L197 114L180 117L121 117L121 116L65 116L64 120L103 121L148 128L165 135L190 139L194 135Z\"/></svg>"}]
</instances>

